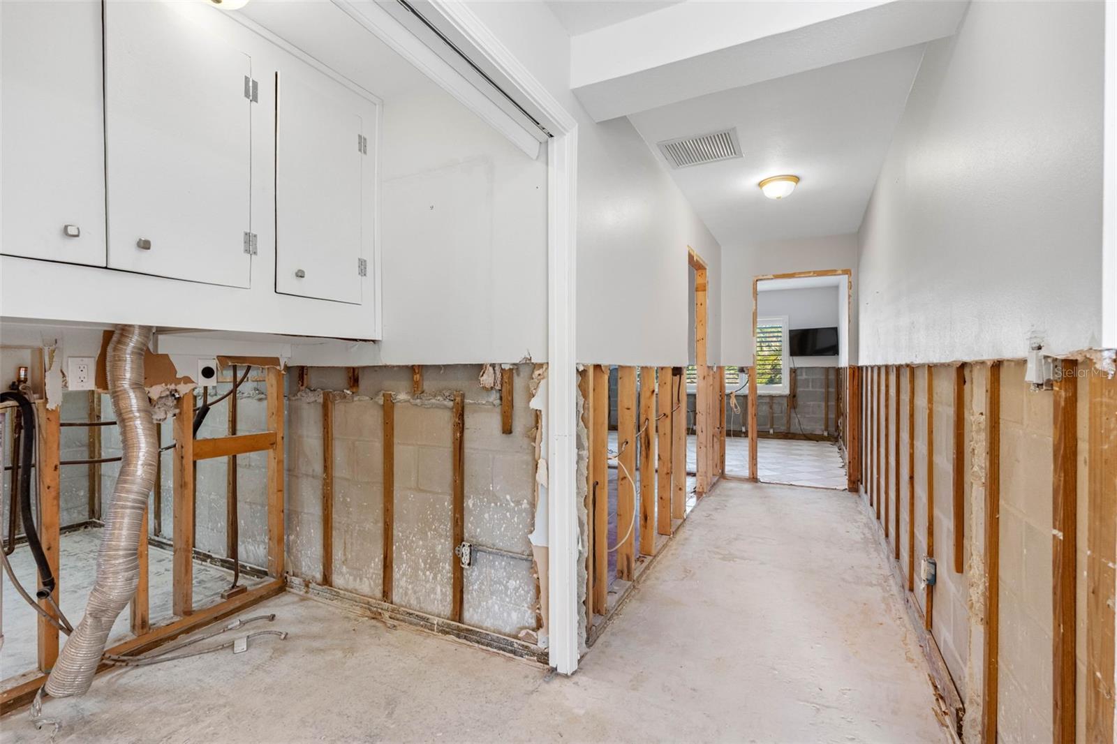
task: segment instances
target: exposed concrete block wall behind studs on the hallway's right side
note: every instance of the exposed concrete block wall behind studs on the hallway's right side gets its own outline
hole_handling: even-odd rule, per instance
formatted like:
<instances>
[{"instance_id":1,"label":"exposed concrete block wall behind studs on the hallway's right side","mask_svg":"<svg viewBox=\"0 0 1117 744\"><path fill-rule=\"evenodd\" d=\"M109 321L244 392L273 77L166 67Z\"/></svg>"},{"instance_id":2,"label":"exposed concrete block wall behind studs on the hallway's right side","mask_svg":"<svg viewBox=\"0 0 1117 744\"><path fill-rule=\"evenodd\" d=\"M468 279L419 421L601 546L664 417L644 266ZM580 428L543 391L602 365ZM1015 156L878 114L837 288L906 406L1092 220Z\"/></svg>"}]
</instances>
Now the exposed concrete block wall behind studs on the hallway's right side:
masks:
<instances>
[{"instance_id":1,"label":"exposed concrete block wall behind studs on the hallway's right side","mask_svg":"<svg viewBox=\"0 0 1117 744\"><path fill-rule=\"evenodd\" d=\"M954 571L953 470L954 470L954 368L934 366L934 487L935 487L935 557L937 583L934 589L932 635L942 652L947 669L962 698L981 695L980 686L970 690L974 679L980 679L972 665L983 664L980 643L973 646L971 595L974 579L971 550L983 551L983 535L966 534L963 573ZM899 388L899 445L900 457L895 458L895 422L897 407L889 400L888 473L894 478L889 492L895 498L895 470L900 479L900 557L905 579L908 555L915 554L915 593L913 599L925 608L925 594L919 586L920 561L926 555L927 518L927 381L928 368L915 369L915 429L914 429L914 527L915 545L907 538L908 523L908 431L907 372L900 370ZM985 395L985 368L967 365L964 389L964 461L965 525L972 531L975 499L984 498L985 464L974 461L974 452L984 447L983 418ZM1078 675L1076 686L1078 731L1085 731L1086 686L1086 535L1089 524L1088 506L1088 379L1078 379L1078 555L1080 580L1077 588L1076 656ZM875 389L875 388L873 388ZM1000 643L997 738L1006 742L1050 742L1052 731L1052 457L1053 457L1053 394L1032 391L1024 382L1024 363L1008 361L1001 364L1001 483L1000 483ZM870 419L871 420L871 419ZM884 417L881 416L881 423ZM980 433L977 427L980 426ZM975 442L974 437L982 438ZM870 460L871 462L871 460ZM863 474L862 493L868 485L876 486L875 471ZM881 488L881 493L884 488ZM895 502L894 502L895 503ZM875 509L873 509L875 513ZM889 544L896 540L890 525ZM891 547L889 549L891 553ZM982 638L981 626L977 637ZM982 641L983 642L983 641ZM973 648L973 650L971 650ZM980 716L980 713L977 713ZM968 716L967 716L968 718ZM967 724L968 726L968 724Z\"/></svg>"}]
</instances>

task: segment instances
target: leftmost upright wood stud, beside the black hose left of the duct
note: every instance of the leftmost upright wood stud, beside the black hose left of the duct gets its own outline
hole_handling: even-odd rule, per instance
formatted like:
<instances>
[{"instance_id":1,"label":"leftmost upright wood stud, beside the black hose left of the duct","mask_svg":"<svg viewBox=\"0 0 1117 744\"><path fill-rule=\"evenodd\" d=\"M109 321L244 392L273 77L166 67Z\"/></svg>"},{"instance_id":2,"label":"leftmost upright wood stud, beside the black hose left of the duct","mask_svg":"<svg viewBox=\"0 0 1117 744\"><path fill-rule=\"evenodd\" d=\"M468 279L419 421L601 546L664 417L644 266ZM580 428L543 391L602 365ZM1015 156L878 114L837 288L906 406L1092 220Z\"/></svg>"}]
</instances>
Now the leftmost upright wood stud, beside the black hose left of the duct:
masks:
<instances>
[{"instance_id":1,"label":"leftmost upright wood stud, beside the black hose left of the duct","mask_svg":"<svg viewBox=\"0 0 1117 744\"><path fill-rule=\"evenodd\" d=\"M38 427L38 461L35 469L36 495L39 503L39 543L46 555L47 565L55 576L55 590L51 598L60 601L61 576L58 575L59 541L61 530L61 495L59 490L59 441L61 433L61 409L47 408L46 401L37 401ZM26 436L26 435L25 435ZM42 583L39 582L39 589ZM57 619L57 613L46 600L39 601L39 607ZM38 661L40 671L50 671L58 660L58 629L41 616L38 618Z\"/></svg>"}]
</instances>

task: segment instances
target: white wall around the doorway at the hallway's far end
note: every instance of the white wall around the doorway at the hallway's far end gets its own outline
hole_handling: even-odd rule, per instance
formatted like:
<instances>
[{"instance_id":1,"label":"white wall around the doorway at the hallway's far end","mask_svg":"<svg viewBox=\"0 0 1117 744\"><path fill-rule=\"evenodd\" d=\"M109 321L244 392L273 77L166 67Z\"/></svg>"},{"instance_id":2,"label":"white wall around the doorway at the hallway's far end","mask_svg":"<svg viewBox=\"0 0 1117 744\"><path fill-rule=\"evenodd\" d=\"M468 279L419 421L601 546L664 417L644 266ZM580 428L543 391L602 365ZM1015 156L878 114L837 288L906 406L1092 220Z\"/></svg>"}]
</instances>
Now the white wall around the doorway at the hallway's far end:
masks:
<instances>
[{"instance_id":1,"label":"white wall around the doorway at the hallway's far end","mask_svg":"<svg viewBox=\"0 0 1117 744\"><path fill-rule=\"evenodd\" d=\"M725 364L747 366L753 363L753 277L765 274L844 269L857 266L857 236L833 235L821 238L770 240L726 246L722 254L725 271L722 334ZM853 271L853 317L850 349L857 349L857 271ZM852 354L851 364L856 364Z\"/></svg>"}]
</instances>

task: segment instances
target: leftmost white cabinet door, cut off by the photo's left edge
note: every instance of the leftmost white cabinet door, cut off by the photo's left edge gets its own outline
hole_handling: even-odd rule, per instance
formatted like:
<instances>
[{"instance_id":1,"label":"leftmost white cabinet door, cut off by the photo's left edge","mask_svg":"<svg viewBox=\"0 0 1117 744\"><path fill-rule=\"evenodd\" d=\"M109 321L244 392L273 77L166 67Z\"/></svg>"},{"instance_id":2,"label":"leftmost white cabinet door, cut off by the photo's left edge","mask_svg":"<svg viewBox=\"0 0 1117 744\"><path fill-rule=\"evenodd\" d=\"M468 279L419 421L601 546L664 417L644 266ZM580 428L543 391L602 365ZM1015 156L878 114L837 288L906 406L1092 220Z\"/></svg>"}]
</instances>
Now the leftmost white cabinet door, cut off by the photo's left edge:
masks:
<instances>
[{"instance_id":1,"label":"leftmost white cabinet door, cut off by the photo's left edge","mask_svg":"<svg viewBox=\"0 0 1117 744\"><path fill-rule=\"evenodd\" d=\"M0 252L105 265L101 3L0 1Z\"/></svg>"}]
</instances>

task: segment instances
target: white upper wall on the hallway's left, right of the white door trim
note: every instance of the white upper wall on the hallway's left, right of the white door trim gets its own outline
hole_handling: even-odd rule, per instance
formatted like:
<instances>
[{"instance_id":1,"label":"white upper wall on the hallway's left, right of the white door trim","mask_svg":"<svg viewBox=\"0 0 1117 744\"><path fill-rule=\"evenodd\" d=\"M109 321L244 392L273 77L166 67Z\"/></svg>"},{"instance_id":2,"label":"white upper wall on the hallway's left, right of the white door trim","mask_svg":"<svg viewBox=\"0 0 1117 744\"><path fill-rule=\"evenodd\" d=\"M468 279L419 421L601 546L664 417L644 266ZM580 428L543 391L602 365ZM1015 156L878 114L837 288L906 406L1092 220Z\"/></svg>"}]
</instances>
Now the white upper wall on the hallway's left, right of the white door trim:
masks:
<instances>
[{"instance_id":1,"label":"white upper wall on the hallway's left, right of the white door trim","mask_svg":"<svg viewBox=\"0 0 1117 744\"><path fill-rule=\"evenodd\" d=\"M577 360L686 364L690 246L709 266L708 356L720 363L720 246L632 125L594 124L579 104L570 37L543 2L467 4L579 122Z\"/></svg>"}]
</instances>

